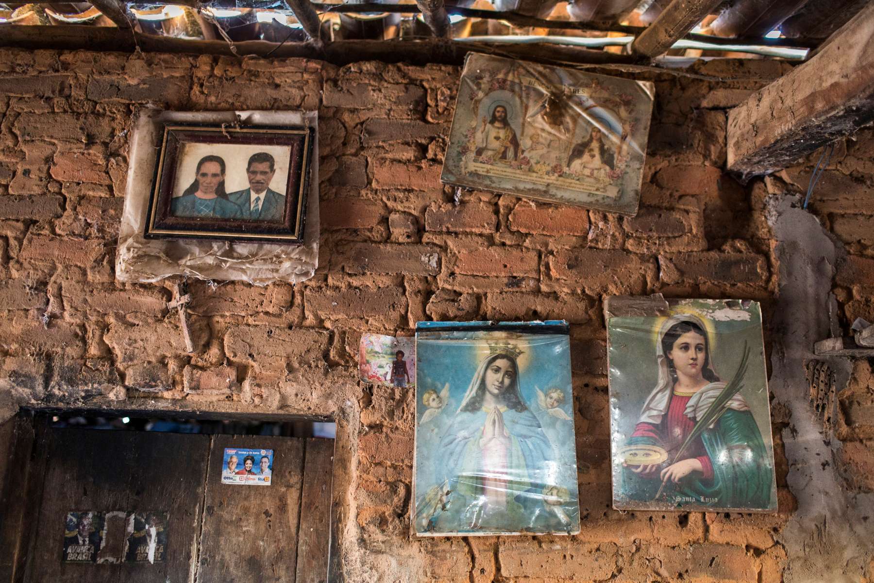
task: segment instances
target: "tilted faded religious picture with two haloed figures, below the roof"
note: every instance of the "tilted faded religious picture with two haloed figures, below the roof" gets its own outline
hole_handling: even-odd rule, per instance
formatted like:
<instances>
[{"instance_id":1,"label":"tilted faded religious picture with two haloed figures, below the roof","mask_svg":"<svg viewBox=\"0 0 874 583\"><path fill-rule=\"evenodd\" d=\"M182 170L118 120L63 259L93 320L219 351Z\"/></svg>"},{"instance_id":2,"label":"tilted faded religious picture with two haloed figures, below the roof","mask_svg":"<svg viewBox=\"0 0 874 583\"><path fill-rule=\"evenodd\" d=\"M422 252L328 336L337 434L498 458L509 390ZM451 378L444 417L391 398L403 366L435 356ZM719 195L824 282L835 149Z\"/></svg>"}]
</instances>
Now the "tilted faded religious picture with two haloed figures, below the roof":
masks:
<instances>
[{"instance_id":1,"label":"tilted faded religious picture with two haloed figures, below the roof","mask_svg":"<svg viewBox=\"0 0 874 583\"><path fill-rule=\"evenodd\" d=\"M470 53L440 179L634 215L654 87Z\"/></svg>"}]
</instances>

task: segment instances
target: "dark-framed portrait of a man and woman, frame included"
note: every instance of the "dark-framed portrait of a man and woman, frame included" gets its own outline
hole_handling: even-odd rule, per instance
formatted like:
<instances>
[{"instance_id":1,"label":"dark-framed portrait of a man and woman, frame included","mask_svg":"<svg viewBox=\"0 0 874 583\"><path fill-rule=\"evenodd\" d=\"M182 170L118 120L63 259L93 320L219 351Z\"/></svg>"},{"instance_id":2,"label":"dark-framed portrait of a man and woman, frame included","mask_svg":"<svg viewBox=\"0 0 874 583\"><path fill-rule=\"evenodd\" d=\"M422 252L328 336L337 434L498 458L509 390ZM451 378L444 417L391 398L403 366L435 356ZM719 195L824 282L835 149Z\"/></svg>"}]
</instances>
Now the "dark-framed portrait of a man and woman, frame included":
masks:
<instances>
[{"instance_id":1,"label":"dark-framed portrait of a man and woman, frame included","mask_svg":"<svg viewBox=\"0 0 874 583\"><path fill-rule=\"evenodd\" d=\"M301 244L314 132L165 124L145 237Z\"/></svg>"}]
</instances>

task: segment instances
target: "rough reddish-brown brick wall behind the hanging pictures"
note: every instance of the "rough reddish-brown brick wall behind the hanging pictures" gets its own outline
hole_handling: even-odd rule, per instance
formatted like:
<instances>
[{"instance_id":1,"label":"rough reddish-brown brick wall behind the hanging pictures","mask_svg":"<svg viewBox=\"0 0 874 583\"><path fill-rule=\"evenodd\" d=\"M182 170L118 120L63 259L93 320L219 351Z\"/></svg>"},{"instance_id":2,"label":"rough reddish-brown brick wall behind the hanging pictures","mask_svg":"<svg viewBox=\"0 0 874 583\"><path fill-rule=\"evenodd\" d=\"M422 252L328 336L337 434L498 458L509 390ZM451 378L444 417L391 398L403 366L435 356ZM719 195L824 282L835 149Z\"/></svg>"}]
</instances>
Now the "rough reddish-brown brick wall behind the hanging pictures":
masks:
<instances>
[{"instance_id":1,"label":"rough reddish-brown brick wall behind the hanging pictures","mask_svg":"<svg viewBox=\"0 0 874 583\"><path fill-rule=\"evenodd\" d=\"M774 406L780 513L610 510L605 295L747 297L779 309L766 197L811 163L746 186L725 176L725 110L788 66L711 61L655 81L641 212L621 218L439 181L459 70L299 59L0 50L0 397L24 404L329 414L350 581L780 581L792 520ZM605 73L616 73L609 70ZM694 73L694 74L686 74ZM296 286L191 286L188 356L171 284L114 281L136 108L319 111L322 241ZM874 133L841 146L812 205L848 253L844 324L874 320ZM414 399L356 381L364 330L419 320L572 323L582 533L410 540ZM771 337L772 330L766 330ZM848 488L874 489L874 377L841 393ZM806 395L801 387L800 394ZM805 397L806 398L806 397ZM869 414L866 414L869 413Z\"/></svg>"}]
</instances>

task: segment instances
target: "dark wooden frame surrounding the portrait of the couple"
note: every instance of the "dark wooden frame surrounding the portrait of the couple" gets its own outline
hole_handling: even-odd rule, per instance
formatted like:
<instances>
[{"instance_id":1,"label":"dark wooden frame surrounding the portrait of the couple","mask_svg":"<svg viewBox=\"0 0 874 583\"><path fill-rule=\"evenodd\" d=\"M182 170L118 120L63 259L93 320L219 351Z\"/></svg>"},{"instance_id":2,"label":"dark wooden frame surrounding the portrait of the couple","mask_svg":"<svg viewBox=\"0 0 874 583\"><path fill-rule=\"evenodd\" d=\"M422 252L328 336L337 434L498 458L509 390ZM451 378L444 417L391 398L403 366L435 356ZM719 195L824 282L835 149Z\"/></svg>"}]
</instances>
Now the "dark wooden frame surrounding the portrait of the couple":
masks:
<instances>
[{"instance_id":1,"label":"dark wooden frame surrounding the portrait of the couple","mask_svg":"<svg viewBox=\"0 0 874 583\"><path fill-rule=\"evenodd\" d=\"M149 193L144 236L147 239L222 239L301 245L315 131L315 128L303 127L165 124ZM257 146L287 147L288 175L274 176L270 183L285 184L281 220L175 216L171 204L174 195L179 196L177 172L184 144L214 144L225 151L227 146L238 146L244 164L246 150L257 150ZM253 146L255 148L251 148ZM284 165L285 161L281 162ZM279 167L280 164L276 164L274 170Z\"/></svg>"}]
</instances>

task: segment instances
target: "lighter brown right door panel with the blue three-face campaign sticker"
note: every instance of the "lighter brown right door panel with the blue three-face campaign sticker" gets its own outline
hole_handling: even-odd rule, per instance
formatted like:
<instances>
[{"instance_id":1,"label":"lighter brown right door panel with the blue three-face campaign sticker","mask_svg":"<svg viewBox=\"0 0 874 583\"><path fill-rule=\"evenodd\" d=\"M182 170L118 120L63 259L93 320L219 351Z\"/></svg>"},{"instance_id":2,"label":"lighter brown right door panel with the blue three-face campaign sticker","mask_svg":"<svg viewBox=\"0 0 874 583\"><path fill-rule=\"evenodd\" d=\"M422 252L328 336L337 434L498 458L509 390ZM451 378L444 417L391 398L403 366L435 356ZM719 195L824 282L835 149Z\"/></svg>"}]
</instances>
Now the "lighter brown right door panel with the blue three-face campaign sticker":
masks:
<instances>
[{"instance_id":1,"label":"lighter brown right door panel with the blue three-face campaign sticker","mask_svg":"<svg viewBox=\"0 0 874 583\"><path fill-rule=\"evenodd\" d=\"M225 448L274 450L273 485L229 486ZM198 583L325 583L334 440L215 435ZM235 533L245 533L237 536Z\"/></svg>"}]
</instances>

